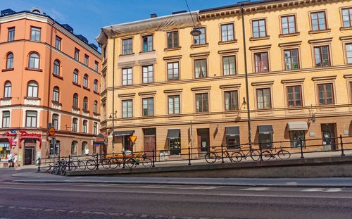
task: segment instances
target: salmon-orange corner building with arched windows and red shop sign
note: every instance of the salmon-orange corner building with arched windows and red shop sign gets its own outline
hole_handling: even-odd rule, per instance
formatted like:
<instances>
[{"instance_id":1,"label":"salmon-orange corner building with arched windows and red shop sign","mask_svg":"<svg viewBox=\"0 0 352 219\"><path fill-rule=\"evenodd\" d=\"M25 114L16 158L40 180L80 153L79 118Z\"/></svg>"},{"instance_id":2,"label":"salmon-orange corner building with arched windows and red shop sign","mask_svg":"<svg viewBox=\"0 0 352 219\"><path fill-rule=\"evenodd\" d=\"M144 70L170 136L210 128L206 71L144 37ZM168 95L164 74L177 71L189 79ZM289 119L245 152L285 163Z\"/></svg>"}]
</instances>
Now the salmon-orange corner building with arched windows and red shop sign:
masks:
<instances>
[{"instance_id":1,"label":"salmon-orange corner building with arched windows and red shop sign","mask_svg":"<svg viewBox=\"0 0 352 219\"><path fill-rule=\"evenodd\" d=\"M94 44L39 8L0 16L0 156L37 158L96 152L100 60ZM47 134L54 127L53 137ZM0 165L1 166L1 165Z\"/></svg>"}]
</instances>

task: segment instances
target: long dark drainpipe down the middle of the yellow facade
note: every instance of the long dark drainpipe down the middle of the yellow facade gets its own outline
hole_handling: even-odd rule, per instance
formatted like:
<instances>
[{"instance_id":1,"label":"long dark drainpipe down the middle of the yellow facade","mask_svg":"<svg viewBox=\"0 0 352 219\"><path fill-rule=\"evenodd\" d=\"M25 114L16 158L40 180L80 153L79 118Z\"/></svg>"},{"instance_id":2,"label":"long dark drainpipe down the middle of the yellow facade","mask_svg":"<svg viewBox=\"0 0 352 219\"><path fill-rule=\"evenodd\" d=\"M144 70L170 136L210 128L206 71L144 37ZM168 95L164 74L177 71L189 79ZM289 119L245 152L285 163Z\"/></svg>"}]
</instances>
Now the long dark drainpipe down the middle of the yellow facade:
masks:
<instances>
[{"instance_id":1,"label":"long dark drainpipe down the middle of the yellow facade","mask_svg":"<svg viewBox=\"0 0 352 219\"><path fill-rule=\"evenodd\" d=\"M249 109L249 87L248 87L248 69L247 69L247 51L246 51L246 30L244 29L244 4L241 4L243 44L244 44L244 70L246 75L246 97L247 97L247 114L248 114L248 140L249 146L252 147L252 130L251 130L251 111Z\"/></svg>"}]
</instances>

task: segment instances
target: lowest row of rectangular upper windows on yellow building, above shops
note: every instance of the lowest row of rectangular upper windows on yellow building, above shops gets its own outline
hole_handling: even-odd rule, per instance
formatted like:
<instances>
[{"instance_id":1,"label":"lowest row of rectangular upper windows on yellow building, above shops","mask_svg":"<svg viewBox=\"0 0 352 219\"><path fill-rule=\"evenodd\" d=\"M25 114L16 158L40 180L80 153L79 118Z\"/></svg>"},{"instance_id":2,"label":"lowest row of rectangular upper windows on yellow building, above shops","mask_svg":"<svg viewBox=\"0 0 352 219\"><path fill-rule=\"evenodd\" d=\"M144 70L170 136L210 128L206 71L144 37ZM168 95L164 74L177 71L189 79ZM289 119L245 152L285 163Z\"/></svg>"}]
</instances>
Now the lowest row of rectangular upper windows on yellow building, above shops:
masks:
<instances>
[{"instance_id":1,"label":"lowest row of rectangular upper windows on yellow building, above shops","mask_svg":"<svg viewBox=\"0 0 352 219\"><path fill-rule=\"evenodd\" d=\"M319 105L334 104L334 89L332 83L319 84L318 101ZM350 83L352 91L352 82ZM303 106L302 87L301 85L287 86L287 106ZM256 108L272 108L272 95L270 87L263 87L256 89ZM352 94L351 94L352 97ZM238 91L224 92L225 111L237 111L239 109ZM201 93L195 94L196 113L207 113L209 111L209 94ZM104 107L104 106L103 106ZM104 110L104 109L103 109ZM130 118L133 116L133 100L122 100L122 118ZM180 95L168 96L168 114L180 113ZM142 115L154 115L154 98L148 97L142 99ZM104 119L105 115L104 115Z\"/></svg>"}]
</instances>

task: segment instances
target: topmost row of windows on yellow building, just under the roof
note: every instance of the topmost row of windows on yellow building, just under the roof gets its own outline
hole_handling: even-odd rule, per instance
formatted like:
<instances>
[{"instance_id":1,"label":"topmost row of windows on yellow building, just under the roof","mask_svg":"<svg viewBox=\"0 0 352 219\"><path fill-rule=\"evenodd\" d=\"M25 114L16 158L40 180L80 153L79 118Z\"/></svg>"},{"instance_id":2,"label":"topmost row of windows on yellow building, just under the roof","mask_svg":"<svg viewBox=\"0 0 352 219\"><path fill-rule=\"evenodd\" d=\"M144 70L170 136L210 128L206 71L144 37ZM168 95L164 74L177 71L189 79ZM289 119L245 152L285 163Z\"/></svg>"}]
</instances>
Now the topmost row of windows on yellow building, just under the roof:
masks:
<instances>
[{"instance_id":1,"label":"topmost row of windows on yellow building, just under the roof","mask_svg":"<svg viewBox=\"0 0 352 219\"><path fill-rule=\"evenodd\" d=\"M310 13L310 30L321 31L328 30L326 11L318 11ZM352 27L352 8L344 8L341 10L342 24L343 27ZM282 15L280 16L281 21L281 34L292 35L298 33L296 25L296 14ZM193 44L202 45L206 44L206 27L199 27L201 35L194 36ZM251 20L251 33L253 38L268 37L268 30L266 24L266 18ZM235 40L234 37L234 23L226 23L220 25L221 42L232 42ZM167 48L179 48L179 32L167 32ZM142 36L142 51L153 51L153 35ZM122 55L132 54L132 38L122 39ZM104 51L104 58L106 58L106 52Z\"/></svg>"}]
</instances>

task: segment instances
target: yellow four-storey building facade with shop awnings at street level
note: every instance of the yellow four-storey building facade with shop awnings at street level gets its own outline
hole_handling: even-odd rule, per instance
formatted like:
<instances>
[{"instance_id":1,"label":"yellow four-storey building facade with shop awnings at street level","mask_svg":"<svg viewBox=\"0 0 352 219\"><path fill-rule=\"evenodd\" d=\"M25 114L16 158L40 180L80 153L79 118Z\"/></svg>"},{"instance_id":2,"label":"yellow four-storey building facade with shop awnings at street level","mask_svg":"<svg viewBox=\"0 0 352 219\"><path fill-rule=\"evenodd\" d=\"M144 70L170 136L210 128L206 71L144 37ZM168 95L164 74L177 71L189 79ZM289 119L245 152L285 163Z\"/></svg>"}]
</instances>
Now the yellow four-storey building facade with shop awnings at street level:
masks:
<instances>
[{"instance_id":1,"label":"yellow four-storey building facade with shop awnings at street level","mask_svg":"<svg viewBox=\"0 0 352 219\"><path fill-rule=\"evenodd\" d=\"M351 1L256 1L191 15L103 27L96 38L110 153L273 141L296 149L300 139L334 149L330 137L351 133Z\"/></svg>"}]
</instances>

